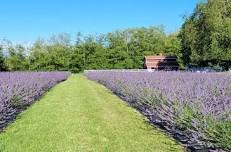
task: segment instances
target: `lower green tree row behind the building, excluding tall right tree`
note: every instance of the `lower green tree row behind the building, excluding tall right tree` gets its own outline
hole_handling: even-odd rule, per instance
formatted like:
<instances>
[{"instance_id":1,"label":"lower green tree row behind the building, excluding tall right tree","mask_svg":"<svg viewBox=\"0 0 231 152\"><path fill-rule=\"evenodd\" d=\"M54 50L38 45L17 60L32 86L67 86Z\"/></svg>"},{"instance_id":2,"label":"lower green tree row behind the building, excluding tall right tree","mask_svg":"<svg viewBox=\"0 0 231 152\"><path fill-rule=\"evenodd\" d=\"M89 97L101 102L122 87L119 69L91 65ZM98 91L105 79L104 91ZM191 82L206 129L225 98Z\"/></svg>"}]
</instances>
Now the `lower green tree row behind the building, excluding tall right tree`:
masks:
<instances>
[{"instance_id":1,"label":"lower green tree row behind the building, excluding tall right tree","mask_svg":"<svg viewBox=\"0 0 231 152\"><path fill-rule=\"evenodd\" d=\"M0 63L2 60L10 71L136 69L143 68L145 55L174 54L180 59L180 48L177 34L167 35L162 27L89 36L78 33L74 44L68 34L59 34L48 41L39 39L30 48L9 43L5 59L0 53Z\"/></svg>"}]
</instances>

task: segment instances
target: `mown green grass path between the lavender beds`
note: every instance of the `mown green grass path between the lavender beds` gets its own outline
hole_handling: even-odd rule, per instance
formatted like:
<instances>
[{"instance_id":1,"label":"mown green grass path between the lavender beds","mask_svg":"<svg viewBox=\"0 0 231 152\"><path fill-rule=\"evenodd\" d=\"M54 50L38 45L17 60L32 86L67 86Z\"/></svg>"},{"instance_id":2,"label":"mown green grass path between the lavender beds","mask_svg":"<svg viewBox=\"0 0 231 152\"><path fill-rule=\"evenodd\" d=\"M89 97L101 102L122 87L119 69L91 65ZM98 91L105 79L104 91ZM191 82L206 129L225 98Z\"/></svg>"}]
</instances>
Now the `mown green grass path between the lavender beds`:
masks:
<instances>
[{"instance_id":1,"label":"mown green grass path between the lavender beds","mask_svg":"<svg viewBox=\"0 0 231 152\"><path fill-rule=\"evenodd\" d=\"M0 152L183 151L103 86L81 75L49 91L0 134Z\"/></svg>"}]
</instances>

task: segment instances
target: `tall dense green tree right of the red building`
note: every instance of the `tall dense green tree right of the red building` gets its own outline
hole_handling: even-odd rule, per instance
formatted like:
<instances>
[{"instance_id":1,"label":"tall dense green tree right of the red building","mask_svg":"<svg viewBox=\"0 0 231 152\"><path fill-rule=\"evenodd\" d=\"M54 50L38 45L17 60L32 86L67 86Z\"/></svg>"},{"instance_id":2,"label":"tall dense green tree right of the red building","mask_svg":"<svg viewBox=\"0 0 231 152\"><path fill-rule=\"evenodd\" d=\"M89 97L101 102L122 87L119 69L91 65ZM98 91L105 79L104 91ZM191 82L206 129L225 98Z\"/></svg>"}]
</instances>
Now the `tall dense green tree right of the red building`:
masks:
<instances>
[{"instance_id":1,"label":"tall dense green tree right of the red building","mask_svg":"<svg viewBox=\"0 0 231 152\"><path fill-rule=\"evenodd\" d=\"M231 0L199 3L179 34L185 64L231 65Z\"/></svg>"}]
</instances>

